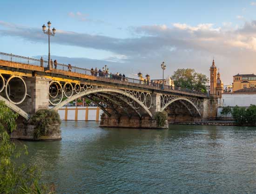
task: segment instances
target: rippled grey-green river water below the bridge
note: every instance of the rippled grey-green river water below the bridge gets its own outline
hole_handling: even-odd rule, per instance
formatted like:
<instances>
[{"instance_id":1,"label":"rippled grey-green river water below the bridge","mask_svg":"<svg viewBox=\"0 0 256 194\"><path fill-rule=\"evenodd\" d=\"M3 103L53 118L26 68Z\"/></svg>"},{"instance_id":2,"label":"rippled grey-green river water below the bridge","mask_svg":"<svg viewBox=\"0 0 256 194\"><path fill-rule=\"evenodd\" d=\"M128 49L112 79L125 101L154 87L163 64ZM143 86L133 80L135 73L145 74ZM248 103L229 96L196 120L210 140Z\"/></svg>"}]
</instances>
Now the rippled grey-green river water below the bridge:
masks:
<instances>
[{"instance_id":1,"label":"rippled grey-green river water below the bridge","mask_svg":"<svg viewBox=\"0 0 256 194\"><path fill-rule=\"evenodd\" d=\"M62 141L24 142L29 156L21 160L61 194L256 192L256 128L98 124L62 122Z\"/></svg>"}]
</instances>

